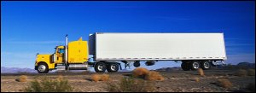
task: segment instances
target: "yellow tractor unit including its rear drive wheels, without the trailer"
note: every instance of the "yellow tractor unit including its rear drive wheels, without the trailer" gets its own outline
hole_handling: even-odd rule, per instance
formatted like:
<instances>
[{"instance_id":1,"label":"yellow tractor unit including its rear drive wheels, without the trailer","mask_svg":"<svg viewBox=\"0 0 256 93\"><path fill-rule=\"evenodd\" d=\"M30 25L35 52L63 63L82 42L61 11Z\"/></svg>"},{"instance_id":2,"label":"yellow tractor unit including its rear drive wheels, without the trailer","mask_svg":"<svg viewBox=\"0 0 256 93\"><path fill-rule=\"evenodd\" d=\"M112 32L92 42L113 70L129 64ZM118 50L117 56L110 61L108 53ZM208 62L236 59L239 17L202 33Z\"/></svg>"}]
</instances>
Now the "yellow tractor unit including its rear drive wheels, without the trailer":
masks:
<instances>
[{"instance_id":1,"label":"yellow tractor unit including its rear drive wheels, without the trailer","mask_svg":"<svg viewBox=\"0 0 256 93\"><path fill-rule=\"evenodd\" d=\"M50 70L87 70L88 67L94 67L97 73L103 73L108 70L109 73L118 72L120 64L118 62L89 61L89 48L87 41L79 38L78 41L72 41L66 45L55 47L55 53L38 54L35 62L35 70L38 73L49 73Z\"/></svg>"}]
</instances>

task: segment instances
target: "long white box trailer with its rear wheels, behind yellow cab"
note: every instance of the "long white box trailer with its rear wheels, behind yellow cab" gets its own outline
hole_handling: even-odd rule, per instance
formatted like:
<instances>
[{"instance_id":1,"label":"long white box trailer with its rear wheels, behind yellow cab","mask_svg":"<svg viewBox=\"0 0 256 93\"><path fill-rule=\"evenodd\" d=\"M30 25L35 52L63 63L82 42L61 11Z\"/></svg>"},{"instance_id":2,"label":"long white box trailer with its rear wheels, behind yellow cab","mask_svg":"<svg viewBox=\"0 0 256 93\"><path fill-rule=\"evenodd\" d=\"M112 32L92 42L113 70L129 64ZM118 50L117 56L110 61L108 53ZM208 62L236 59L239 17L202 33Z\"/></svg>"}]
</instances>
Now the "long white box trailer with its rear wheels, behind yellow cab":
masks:
<instances>
[{"instance_id":1,"label":"long white box trailer with its rear wheels, behind yellow cab","mask_svg":"<svg viewBox=\"0 0 256 93\"><path fill-rule=\"evenodd\" d=\"M227 59L224 33L112 33L90 35L90 55L96 62L182 61L183 70L209 69Z\"/></svg>"}]
</instances>

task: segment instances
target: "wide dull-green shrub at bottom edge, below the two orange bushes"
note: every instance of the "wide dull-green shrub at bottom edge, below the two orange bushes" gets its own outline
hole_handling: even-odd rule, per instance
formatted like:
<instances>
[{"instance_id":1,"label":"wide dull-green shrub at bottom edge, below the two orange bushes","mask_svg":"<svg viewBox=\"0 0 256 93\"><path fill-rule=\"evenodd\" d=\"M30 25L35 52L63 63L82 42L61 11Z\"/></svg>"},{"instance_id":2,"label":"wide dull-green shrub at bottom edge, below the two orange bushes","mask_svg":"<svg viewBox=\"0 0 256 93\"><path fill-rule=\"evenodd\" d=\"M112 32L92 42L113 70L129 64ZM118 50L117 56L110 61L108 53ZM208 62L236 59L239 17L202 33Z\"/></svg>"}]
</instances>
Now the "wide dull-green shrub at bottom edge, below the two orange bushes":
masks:
<instances>
[{"instance_id":1,"label":"wide dull-green shrub at bottom edge, below the two orange bushes","mask_svg":"<svg viewBox=\"0 0 256 93\"><path fill-rule=\"evenodd\" d=\"M136 78L123 78L120 83L108 82L110 92L152 92L155 90L154 82Z\"/></svg>"}]
</instances>

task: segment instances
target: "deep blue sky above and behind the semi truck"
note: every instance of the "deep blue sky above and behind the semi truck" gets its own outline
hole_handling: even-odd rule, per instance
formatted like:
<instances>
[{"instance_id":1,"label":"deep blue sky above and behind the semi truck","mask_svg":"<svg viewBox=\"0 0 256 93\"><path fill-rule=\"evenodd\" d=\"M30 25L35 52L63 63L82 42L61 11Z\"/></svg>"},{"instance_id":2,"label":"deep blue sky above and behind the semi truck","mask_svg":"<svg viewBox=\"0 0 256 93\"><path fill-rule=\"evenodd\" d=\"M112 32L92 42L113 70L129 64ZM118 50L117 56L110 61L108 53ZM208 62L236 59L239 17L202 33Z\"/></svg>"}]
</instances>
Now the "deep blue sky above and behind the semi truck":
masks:
<instances>
[{"instance_id":1,"label":"deep blue sky above and behind the semi truck","mask_svg":"<svg viewBox=\"0 0 256 93\"><path fill-rule=\"evenodd\" d=\"M1 66L33 68L36 54L52 54L66 34L88 40L94 32L224 32L226 63L255 62L254 1L4 1ZM148 68L179 66L160 61Z\"/></svg>"}]
</instances>

